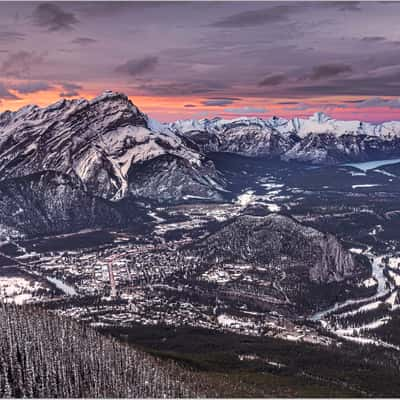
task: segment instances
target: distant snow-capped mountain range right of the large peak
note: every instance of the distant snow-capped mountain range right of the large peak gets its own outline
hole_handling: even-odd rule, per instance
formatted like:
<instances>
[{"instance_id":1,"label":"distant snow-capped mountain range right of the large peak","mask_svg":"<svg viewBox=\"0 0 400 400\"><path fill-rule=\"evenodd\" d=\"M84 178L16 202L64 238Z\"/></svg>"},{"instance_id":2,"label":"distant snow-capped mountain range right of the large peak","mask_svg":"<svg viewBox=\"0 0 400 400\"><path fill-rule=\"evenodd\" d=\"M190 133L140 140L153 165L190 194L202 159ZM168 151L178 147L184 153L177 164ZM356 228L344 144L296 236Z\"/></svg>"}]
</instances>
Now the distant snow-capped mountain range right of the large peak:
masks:
<instances>
[{"instance_id":1,"label":"distant snow-capped mountain range right of the large peak","mask_svg":"<svg viewBox=\"0 0 400 400\"><path fill-rule=\"evenodd\" d=\"M400 122L338 121L324 113L308 119L240 117L184 120L164 125L205 152L229 152L285 161L335 164L400 155Z\"/></svg>"}]
</instances>

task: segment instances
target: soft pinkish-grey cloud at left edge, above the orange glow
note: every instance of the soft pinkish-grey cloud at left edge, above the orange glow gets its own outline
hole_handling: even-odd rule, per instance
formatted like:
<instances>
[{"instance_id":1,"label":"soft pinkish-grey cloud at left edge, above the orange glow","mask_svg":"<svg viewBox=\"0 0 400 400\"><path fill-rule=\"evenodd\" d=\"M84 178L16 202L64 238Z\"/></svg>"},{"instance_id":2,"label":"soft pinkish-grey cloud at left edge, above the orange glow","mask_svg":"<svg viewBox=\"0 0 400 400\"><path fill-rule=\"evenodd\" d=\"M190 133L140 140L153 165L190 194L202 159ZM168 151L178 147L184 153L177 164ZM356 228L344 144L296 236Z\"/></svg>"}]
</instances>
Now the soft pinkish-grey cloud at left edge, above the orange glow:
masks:
<instances>
[{"instance_id":1,"label":"soft pinkish-grey cloud at left edge, above the orange glow","mask_svg":"<svg viewBox=\"0 0 400 400\"><path fill-rule=\"evenodd\" d=\"M0 66L0 72L6 76L23 78L29 75L32 67L43 63L44 57L34 52L18 51L8 55Z\"/></svg>"}]
</instances>

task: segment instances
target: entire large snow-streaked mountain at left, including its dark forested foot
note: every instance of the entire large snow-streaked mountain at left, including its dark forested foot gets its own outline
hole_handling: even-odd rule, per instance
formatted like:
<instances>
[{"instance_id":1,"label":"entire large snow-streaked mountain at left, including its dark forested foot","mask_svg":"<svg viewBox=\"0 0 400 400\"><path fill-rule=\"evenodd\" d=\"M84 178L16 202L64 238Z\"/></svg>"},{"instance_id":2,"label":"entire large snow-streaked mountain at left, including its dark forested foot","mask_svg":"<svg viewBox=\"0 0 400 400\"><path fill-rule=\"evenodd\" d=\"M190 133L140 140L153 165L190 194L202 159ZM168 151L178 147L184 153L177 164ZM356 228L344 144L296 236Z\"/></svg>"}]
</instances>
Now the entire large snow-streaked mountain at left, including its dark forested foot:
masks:
<instances>
[{"instance_id":1,"label":"entire large snow-streaked mountain at left, including its dark forested foot","mask_svg":"<svg viewBox=\"0 0 400 400\"><path fill-rule=\"evenodd\" d=\"M1 235L125 226L144 215L139 201L219 200L212 161L151 124L113 92L1 113Z\"/></svg>"}]
</instances>

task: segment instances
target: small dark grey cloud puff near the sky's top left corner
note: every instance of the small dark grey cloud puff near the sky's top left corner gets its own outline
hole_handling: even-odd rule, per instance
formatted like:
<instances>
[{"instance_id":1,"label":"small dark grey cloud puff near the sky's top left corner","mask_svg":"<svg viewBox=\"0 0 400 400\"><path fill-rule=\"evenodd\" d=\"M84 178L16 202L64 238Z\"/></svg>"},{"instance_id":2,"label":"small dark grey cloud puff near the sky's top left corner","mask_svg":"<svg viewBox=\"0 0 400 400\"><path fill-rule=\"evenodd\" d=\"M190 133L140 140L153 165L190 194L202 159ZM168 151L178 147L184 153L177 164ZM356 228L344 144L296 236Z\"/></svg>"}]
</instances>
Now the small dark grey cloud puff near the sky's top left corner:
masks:
<instances>
[{"instance_id":1,"label":"small dark grey cloud puff near the sky's top left corner","mask_svg":"<svg viewBox=\"0 0 400 400\"><path fill-rule=\"evenodd\" d=\"M49 32L70 31L79 22L75 14L64 11L56 3L39 4L32 14L35 25L46 28Z\"/></svg>"}]
</instances>

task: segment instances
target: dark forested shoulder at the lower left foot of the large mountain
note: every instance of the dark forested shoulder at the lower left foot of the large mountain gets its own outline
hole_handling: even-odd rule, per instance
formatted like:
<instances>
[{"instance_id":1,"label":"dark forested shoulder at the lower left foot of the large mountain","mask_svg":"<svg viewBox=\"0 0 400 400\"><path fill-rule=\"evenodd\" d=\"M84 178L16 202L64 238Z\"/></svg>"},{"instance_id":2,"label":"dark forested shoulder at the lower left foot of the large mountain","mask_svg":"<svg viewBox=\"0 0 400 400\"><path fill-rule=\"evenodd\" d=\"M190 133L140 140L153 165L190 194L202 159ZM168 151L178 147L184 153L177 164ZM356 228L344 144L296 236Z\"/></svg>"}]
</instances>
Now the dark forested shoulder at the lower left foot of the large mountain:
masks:
<instances>
[{"instance_id":1,"label":"dark forested shoulder at the lower left foot of the large mountain","mask_svg":"<svg viewBox=\"0 0 400 400\"><path fill-rule=\"evenodd\" d=\"M89 195L77 177L59 172L39 172L0 182L3 236L52 235L123 226L140 215L139 207L123 213L116 204Z\"/></svg>"}]
</instances>

